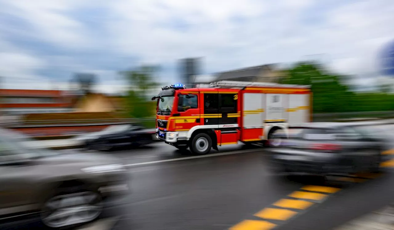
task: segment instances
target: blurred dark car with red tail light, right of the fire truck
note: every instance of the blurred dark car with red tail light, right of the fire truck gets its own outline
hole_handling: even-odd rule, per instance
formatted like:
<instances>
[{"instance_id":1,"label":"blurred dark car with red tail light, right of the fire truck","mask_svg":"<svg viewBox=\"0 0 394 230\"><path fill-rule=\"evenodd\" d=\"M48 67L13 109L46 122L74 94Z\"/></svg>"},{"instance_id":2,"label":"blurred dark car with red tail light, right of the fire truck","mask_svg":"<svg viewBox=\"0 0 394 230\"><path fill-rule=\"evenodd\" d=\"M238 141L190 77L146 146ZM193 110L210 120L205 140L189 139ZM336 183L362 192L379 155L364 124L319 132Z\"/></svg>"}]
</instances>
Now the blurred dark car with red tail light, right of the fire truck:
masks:
<instances>
[{"instance_id":1,"label":"blurred dark car with red tail light, right of the fire truck","mask_svg":"<svg viewBox=\"0 0 394 230\"><path fill-rule=\"evenodd\" d=\"M271 148L276 172L329 175L379 172L381 152L388 140L372 127L351 123L309 123L290 126L275 135L281 139Z\"/></svg>"}]
</instances>

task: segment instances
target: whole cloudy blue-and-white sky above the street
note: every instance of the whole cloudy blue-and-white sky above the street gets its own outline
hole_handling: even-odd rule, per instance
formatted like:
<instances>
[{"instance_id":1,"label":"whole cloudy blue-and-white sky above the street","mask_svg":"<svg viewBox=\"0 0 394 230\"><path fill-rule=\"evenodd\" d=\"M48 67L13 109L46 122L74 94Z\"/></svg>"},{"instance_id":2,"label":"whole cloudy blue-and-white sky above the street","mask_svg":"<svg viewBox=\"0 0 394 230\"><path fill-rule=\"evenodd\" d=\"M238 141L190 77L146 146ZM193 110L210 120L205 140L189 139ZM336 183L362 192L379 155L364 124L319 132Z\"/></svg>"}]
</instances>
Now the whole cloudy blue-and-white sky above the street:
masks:
<instances>
[{"instance_id":1,"label":"whole cloudy blue-and-white sky above the street","mask_svg":"<svg viewBox=\"0 0 394 230\"><path fill-rule=\"evenodd\" d=\"M393 12L393 0L0 0L0 76L39 89L97 73L113 92L139 64L174 83L178 58L204 57L203 74L319 58L368 85Z\"/></svg>"}]
</instances>

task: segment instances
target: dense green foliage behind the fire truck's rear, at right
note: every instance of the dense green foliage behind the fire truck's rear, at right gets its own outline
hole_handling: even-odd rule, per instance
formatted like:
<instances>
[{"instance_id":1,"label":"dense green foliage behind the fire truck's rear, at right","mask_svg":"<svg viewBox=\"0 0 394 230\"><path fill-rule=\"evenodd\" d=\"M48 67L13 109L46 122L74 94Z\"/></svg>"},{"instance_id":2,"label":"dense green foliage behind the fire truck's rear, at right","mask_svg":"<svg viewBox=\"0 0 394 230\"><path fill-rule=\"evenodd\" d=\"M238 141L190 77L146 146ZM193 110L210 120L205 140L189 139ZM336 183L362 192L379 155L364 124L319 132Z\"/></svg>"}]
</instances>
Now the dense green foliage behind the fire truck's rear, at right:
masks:
<instances>
[{"instance_id":1,"label":"dense green foliage behind the fire truck's rear, at right","mask_svg":"<svg viewBox=\"0 0 394 230\"><path fill-rule=\"evenodd\" d=\"M355 93L341 84L344 76L327 73L314 63L298 63L286 73L282 84L310 85L313 113L340 113L394 110L394 95L387 91Z\"/></svg>"}]
</instances>

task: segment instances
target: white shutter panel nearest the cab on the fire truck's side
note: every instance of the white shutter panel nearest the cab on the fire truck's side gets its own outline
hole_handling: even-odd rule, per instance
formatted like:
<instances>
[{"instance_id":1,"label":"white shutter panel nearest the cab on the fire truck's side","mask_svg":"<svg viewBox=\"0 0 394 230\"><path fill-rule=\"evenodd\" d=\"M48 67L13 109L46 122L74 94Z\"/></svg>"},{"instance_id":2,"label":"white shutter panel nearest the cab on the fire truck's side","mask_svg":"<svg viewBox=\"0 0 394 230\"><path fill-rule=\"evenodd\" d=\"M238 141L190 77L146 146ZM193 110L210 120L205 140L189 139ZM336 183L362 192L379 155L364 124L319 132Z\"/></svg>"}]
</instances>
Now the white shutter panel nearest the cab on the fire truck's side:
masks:
<instances>
[{"instance_id":1,"label":"white shutter panel nearest the cab on the fire truck's side","mask_svg":"<svg viewBox=\"0 0 394 230\"><path fill-rule=\"evenodd\" d=\"M263 128L265 117L265 94L244 93L242 119L243 128Z\"/></svg>"}]
</instances>

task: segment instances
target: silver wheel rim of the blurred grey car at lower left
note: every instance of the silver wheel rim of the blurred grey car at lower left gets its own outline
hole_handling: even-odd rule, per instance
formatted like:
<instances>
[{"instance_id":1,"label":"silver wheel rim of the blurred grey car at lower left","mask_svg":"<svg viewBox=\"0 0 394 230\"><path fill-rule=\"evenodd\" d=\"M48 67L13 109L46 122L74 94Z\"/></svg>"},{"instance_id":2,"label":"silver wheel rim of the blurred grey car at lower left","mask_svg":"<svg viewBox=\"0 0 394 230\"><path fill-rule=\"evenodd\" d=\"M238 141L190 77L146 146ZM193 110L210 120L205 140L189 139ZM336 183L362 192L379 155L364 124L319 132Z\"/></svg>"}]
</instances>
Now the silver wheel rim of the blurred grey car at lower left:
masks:
<instances>
[{"instance_id":1,"label":"silver wheel rim of the blurred grey car at lower left","mask_svg":"<svg viewBox=\"0 0 394 230\"><path fill-rule=\"evenodd\" d=\"M101 197L98 193L72 193L46 201L41 219L46 226L59 228L93 221L101 212Z\"/></svg>"}]
</instances>

